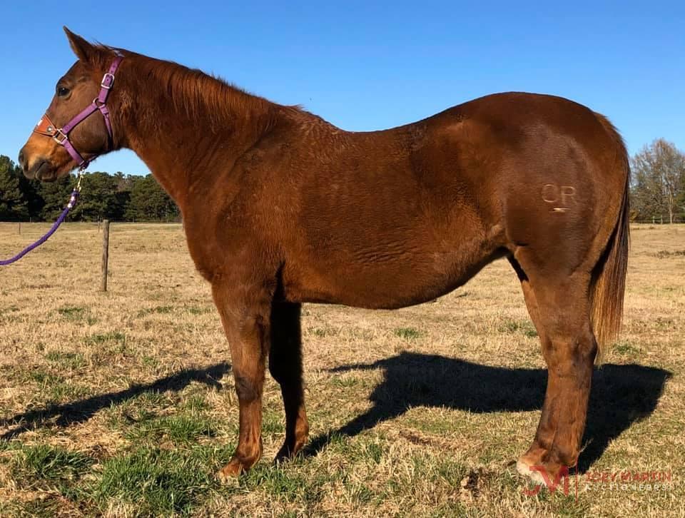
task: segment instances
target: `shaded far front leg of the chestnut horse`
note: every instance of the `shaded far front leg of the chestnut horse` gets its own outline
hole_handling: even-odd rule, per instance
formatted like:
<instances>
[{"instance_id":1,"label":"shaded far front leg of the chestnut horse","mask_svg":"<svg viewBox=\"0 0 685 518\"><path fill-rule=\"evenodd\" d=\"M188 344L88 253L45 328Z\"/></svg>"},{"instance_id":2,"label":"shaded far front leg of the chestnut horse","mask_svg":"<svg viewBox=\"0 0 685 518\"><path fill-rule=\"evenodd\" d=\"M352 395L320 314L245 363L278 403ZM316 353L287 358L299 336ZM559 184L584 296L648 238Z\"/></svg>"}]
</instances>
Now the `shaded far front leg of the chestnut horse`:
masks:
<instances>
[{"instance_id":1,"label":"shaded far front leg of the chestnut horse","mask_svg":"<svg viewBox=\"0 0 685 518\"><path fill-rule=\"evenodd\" d=\"M300 304L274 303L271 310L269 372L280 385L285 407L285 442L275 462L295 457L309 434L302 377L300 308Z\"/></svg>"}]
</instances>

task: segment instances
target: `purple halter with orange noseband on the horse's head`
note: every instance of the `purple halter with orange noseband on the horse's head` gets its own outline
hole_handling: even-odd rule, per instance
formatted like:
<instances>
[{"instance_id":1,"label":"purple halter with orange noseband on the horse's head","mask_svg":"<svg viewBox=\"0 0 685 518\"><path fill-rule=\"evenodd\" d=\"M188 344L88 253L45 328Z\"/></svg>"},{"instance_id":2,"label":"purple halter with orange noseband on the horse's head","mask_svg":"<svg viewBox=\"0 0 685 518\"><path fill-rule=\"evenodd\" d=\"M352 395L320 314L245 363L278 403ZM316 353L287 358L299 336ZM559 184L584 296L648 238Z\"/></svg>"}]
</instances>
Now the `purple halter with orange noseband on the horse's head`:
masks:
<instances>
[{"instance_id":1,"label":"purple halter with orange noseband on the horse's head","mask_svg":"<svg viewBox=\"0 0 685 518\"><path fill-rule=\"evenodd\" d=\"M86 120L86 118L99 110L105 119L109 146L112 145L112 124L109 121L109 110L107 109L106 102L107 97L109 96L109 91L114 84L114 74L116 73L116 69L119 67L122 59L123 56L116 56L114 61L112 61L112 64L109 66L109 70L102 77L102 81L100 83L100 93L98 96L93 99L93 102L85 110L81 111L81 113L78 113L78 115L72 118L71 121L68 121L66 126L58 129L46 113L34 128L34 133L52 137L56 143L58 143L60 146L64 146L69 155L71 155L71 158L78 163L78 168L80 171L85 171L85 169L88 167L88 164L97 158L97 155L92 156L90 160L83 158L83 156L76 151L76 148L73 147L73 144L69 140L69 133L71 133L73 128L76 128L78 124L82 123Z\"/></svg>"}]
</instances>

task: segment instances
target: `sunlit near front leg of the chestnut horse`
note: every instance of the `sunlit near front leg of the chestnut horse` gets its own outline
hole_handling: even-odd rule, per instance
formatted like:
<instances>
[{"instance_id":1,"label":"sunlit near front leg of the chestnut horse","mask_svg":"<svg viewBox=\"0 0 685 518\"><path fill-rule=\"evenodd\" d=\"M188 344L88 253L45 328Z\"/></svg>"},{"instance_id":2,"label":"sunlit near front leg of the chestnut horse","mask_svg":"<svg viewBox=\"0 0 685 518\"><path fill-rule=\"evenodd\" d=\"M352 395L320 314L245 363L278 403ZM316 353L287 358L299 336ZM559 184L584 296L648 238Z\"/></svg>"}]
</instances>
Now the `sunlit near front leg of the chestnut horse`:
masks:
<instances>
[{"instance_id":1,"label":"sunlit near front leg of the chestnut horse","mask_svg":"<svg viewBox=\"0 0 685 518\"><path fill-rule=\"evenodd\" d=\"M266 290L241 286L212 286L214 303L230 345L240 405L238 447L230 462L217 473L221 481L247 471L262 455L262 391L269 350L270 297Z\"/></svg>"}]
</instances>

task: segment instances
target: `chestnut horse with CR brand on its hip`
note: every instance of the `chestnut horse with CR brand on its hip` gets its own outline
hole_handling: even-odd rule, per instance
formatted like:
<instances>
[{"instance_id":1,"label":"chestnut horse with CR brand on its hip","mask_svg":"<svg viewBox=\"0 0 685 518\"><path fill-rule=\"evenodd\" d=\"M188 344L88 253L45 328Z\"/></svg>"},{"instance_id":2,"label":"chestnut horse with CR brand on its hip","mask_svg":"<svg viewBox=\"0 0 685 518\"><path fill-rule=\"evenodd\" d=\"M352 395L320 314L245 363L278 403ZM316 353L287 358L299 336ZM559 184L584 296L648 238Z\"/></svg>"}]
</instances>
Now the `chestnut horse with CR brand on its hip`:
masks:
<instances>
[{"instance_id":1,"label":"chestnut horse with CR brand on its hip","mask_svg":"<svg viewBox=\"0 0 685 518\"><path fill-rule=\"evenodd\" d=\"M96 111L69 142L86 161L138 154L181 209L211 285L240 402L238 446L220 478L262 454L267 357L285 406L277 460L307 441L302 303L425 303L497 258L521 281L549 372L517 468L539 480L530 467L553 477L576 464L594 360L619 330L628 253L629 165L607 118L564 98L499 93L407 126L342 131L201 71L65 31L78 61L47 120L62 128L116 69L116 80L105 75L108 124ZM26 176L50 181L78 165L63 137L31 135L19 156Z\"/></svg>"}]
</instances>

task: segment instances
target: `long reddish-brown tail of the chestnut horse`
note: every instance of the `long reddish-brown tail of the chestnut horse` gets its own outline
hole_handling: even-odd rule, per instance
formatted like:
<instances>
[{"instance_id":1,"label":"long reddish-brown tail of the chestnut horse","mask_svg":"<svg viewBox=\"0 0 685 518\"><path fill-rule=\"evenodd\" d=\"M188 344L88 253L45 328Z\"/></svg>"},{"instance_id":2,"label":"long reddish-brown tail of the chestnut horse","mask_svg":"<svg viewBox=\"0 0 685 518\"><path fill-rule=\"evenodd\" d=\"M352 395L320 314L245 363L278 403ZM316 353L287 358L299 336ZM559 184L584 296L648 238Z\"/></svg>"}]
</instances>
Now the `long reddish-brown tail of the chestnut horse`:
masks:
<instances>
[{"instance_id":1,"label":"long reddish-brown tail of the chestnut horse","mask_svg":"<svg viewBox=\"0 0 685 518\"><path fill-rule=\"evenodd\" d=\"M616 340L621 330L630 235L630 163L626 146L616 128L607 118L597 115L617 142L620 151L617 173L626 178L614 230L594 267L590 285L592 327L599 347L597 357L601 359L604 347Z\"/></svg>"}]
</instances>

